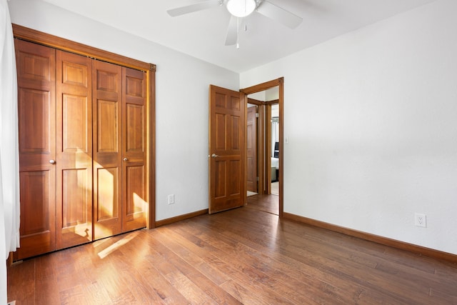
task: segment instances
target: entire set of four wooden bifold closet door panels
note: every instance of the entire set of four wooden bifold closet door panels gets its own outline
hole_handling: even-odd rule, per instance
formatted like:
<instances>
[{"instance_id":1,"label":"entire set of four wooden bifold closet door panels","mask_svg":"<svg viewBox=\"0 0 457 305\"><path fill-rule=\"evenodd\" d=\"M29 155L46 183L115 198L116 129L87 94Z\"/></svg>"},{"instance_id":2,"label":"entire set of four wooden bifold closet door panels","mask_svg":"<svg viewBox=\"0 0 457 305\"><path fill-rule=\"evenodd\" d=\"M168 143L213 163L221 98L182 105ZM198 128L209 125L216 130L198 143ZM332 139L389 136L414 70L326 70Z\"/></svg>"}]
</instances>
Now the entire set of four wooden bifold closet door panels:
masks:
<instances>
[{"instance_id":1,"label":"entire set of four wooden bifold closet door panels","mask_svg":"<svg viewBox=\"0 0 457 305\"><path fill-rule=\"evenodd\" d=\"M146 226L146 77L15 40L21 247L14 259Z\"/></svg>"}]
</instances>

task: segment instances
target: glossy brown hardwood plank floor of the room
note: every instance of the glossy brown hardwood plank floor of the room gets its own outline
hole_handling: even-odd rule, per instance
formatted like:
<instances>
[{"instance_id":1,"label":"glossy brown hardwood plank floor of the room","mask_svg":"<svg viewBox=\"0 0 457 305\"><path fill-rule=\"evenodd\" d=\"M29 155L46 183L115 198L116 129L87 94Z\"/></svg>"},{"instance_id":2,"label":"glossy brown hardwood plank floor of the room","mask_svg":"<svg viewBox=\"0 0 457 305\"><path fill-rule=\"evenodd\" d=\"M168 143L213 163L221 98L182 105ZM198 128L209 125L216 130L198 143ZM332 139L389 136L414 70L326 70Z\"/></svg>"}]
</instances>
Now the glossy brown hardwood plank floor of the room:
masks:
<instances>
[{"instance_id":1,"label":"glossy brown hardwood plank floor of the room","mask_svg":"<svg viewBox=\"0 0 457 305\"><path fill-rule=\"evenodd\" d=\"M16 304L457 304L457 266L248 205L8 269Z\"/></svg>"}]
</instances>

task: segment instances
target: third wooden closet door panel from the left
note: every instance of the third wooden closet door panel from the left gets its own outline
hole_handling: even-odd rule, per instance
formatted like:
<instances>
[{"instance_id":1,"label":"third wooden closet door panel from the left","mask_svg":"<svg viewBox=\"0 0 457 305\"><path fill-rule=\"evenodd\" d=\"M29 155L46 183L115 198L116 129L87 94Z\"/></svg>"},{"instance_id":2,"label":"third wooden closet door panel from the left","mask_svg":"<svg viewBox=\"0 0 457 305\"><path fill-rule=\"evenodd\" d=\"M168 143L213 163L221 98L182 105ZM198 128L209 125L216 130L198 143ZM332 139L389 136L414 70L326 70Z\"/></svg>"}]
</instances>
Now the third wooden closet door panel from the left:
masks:
<instances>
[{"instance_id":1,"label":"third wooden closet door panel from the left","mask_svg":"<svg viewBox=\"0 0 457 305\"><path fill-rule=\"evenodd\" d=\"M122 231L121 74L121 66L92 63L94 239Z\"/></svg>"}]
</instances>

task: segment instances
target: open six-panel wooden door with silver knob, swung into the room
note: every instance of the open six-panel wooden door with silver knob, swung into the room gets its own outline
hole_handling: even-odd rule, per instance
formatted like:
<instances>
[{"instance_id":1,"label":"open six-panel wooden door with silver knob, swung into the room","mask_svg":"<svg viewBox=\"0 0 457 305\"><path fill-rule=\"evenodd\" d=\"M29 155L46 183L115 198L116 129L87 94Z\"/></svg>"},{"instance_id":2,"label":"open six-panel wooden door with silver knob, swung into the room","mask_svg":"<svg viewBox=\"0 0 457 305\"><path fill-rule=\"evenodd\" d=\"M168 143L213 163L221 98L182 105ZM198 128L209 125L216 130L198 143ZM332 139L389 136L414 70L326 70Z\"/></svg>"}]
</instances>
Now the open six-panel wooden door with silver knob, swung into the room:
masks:
<instances>
[{"instance_id":1,"label":"open six-panel wooden door with silver knob, swung into the room","mask_svg":"<svg viewBox=\"0 0 457 305\"><path fill-rule=\"evenodd\" d=\"M209 214L246 204L246 101L238 91L210 86Z\"/></svg>"}]
</instances>

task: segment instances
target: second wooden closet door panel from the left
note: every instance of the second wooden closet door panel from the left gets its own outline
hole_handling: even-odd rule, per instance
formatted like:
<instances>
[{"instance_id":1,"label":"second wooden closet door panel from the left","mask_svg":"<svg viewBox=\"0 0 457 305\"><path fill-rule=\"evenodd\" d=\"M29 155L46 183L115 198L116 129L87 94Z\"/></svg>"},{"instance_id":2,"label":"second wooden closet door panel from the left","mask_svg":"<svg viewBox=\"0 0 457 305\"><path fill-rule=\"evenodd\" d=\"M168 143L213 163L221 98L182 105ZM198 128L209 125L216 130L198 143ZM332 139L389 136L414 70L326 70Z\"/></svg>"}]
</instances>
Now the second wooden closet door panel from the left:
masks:
<instances>
[{"instance_id":1,"label":"second wooden closet door panel from the left","mask_svg":"<svg viewBox=\"0 0 457 305\"><path fill-rule=\"evenodd\" d=\"M91 62L56 50L56 249L92 240Z\"/></svg>"}]
</instances>

